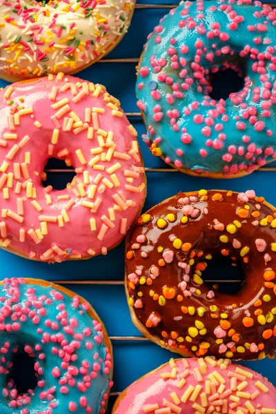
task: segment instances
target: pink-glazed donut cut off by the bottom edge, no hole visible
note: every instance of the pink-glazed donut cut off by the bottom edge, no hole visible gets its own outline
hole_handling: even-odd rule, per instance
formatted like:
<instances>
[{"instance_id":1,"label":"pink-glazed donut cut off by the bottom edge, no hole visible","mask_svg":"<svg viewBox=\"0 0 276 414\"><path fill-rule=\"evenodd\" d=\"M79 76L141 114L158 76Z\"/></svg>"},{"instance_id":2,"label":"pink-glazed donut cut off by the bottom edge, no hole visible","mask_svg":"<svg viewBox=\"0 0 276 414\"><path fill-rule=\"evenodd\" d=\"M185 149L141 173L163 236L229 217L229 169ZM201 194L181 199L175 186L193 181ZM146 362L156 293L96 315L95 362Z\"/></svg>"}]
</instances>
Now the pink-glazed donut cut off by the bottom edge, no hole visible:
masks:
<instances>
[{"instance_id":1,"label":"pink-glazed donut cut off by the bottom edge, no hole visible","mask_svg":"<svg viewBox=\"0 0 276 414\"><path fill-rule=\"evenodd\" d=\"M262 375L205 357L170 359L126 388L112 413L275 414L275 408L276 389Z\"/></svg>"}]
</instances>

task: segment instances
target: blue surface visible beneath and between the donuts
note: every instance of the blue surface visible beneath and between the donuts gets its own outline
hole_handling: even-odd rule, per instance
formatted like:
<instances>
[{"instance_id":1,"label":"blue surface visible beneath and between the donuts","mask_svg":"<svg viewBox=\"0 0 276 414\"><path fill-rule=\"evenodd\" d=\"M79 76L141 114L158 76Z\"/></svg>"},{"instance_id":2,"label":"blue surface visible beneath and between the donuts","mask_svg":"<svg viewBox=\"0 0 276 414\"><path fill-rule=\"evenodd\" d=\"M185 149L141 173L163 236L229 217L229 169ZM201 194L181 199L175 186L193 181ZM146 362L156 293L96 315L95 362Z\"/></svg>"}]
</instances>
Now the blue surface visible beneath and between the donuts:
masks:
<instances>
[{"instance_id":1,"label":"blue surface visible beneath and between the donuts","mask_svg":"<svg viewBox=\"0 0 276 414\"><path fill-rule=\"evenodd\" d=\"M147 2L139 0L139 3ZM150 3L168 4L172 3L172 0L152 0ZM139 57L148 33L166 12L168 9L135 10L128 34L119 46L108 55L108 58ZM91 68L80 72L79 77L95 83L103 83L108 92L121 101L121 106L126 112L137 112L135 63L96 63ZM6 82L0 81L0 86L6 86L6 84ZM131 121L139 132L145 165L164 167L164 163L153 157L141 141L141 134L145 132L141 119L133 118ZM271 204L276 205L276 192L273 185L276 172L254 172L248 177L234 180L202 179L189 177L179 172L148 172L147 176L148 196L144 210L166 197L175 195L179 190L190 191L200 188L235 191L253 188L257 195L264 196ZM61 175L57 179L62 179ZM0 250L0 266L1 277L21 275L47 280L75 280L76 283L73 286L67 287L88 299L99 313L109 335L139 335L130 321L124 286L81 286L77 284L78 279L124 279L124 244L110 251L106 257L95 257L82 262L65 262L51 266L31 262ZM172 356L169 351L150 342L115 342L113 345L115 385L112 391L122 391L128 384L166 362ZM242 364L262 373L276 386L276 359L264 359Z\"/></svg>"}]
</instances>

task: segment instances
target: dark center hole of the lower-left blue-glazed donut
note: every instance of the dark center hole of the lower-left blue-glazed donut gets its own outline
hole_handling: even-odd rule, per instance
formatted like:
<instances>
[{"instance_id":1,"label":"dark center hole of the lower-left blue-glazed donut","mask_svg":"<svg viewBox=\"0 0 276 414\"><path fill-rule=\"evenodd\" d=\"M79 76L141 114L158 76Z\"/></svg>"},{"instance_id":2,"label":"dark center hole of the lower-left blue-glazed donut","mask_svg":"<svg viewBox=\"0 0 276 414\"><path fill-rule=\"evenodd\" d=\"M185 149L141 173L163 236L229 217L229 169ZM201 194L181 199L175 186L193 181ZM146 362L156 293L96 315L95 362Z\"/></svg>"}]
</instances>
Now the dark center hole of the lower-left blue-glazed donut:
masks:
<instances>
[{"instance_id":1,"label":"dark center hole of the lower-left blue-glazed donut","mask_svg":"<svg viewBox=\"0 0 276 414\"><path fill-rule=\"evenodd\" d=\"M37 386L34 358L23 349L14 354L12 369L7 378L8 388L16 388L17 394L27 394Z\"/></svg>"}]
</instances>

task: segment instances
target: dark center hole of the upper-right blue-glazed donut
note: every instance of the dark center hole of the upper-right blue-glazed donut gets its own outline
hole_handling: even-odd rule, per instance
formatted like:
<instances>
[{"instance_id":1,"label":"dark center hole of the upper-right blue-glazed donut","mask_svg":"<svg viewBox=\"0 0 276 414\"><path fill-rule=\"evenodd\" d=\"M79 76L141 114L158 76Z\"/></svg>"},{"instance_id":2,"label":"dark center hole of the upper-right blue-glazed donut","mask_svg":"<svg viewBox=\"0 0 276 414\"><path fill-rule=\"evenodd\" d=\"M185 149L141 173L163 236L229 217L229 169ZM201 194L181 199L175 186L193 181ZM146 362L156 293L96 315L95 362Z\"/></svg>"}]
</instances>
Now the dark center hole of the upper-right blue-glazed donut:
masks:
<instances>
[{"instance_id":1,"label":"dark center hole of the upper-right blue-glazed donut","mask_svg":"<svg viewBox=\"0 0 276 414\"><path fill-rule=\"evenodd\" d=\"M210 73L210 86L212 88L209 96L216 101L227 99L231 93L239 92L244 88L244 71L221 66L217 72Z\"/></svg>"}]
</instances>

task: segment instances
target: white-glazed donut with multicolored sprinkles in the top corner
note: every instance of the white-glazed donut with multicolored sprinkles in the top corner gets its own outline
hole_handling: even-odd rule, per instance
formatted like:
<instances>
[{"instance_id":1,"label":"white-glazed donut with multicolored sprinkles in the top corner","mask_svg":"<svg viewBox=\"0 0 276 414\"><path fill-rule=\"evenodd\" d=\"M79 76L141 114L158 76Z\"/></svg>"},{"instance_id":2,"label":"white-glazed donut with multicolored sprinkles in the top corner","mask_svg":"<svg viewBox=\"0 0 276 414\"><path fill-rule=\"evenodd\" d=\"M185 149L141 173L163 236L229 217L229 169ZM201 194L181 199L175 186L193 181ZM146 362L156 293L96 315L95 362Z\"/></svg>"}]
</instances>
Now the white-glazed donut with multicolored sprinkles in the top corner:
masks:
<instances>
[{"instance_id":1,"label":"white-glazed donut with multicolored sprinkles in the top corner","mask_svg":"<svg viewBox=\"0 0 276 414\"><path fill-rule=\"evenodd\" d=\"M0 77L18 81L79 72L122 39L135 0L3 1Z\"/></svg>"}]
</instances>

